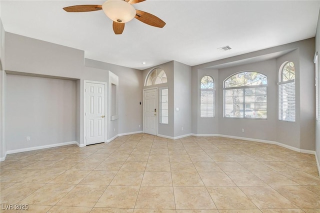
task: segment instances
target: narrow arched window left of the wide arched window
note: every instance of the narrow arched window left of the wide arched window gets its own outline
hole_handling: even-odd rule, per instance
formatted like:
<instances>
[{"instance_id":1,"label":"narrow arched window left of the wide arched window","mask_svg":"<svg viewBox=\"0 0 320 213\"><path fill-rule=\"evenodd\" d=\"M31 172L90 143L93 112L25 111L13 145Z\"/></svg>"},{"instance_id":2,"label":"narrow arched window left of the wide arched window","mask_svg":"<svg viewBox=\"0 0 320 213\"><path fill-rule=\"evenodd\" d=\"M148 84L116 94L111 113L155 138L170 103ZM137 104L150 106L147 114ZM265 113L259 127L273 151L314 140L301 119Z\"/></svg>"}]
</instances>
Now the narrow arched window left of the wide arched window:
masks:
<instances>
[{"instance_id":1,"label":"narrow arched window left of the wide arched window","mask_svg":"<svg viewBox=\"0 0 320 213\"><path fill-rule=\"evenodd\" d=\"M205 75L201 78L200 85L200 116L214 117L214 80Z\"/></svg>"}]
</instances>

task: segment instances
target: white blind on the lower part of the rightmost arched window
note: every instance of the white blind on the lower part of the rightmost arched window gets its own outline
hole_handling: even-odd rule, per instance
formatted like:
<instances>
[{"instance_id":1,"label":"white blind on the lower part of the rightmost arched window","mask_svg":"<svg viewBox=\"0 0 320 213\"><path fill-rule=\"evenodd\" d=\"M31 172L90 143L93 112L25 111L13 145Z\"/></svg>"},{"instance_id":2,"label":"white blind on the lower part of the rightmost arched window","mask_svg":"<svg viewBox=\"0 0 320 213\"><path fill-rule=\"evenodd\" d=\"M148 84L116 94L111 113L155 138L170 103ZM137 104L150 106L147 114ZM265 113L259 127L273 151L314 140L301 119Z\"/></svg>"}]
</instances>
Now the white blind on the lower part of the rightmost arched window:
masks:
<instances>
[{"instance_id":1,"label":"white blind on the lower part of the rightmost arched window","mask_svg":"<svg viewBox=\"0 0 320 213\"><path fill-rule=\"evenodd\" d=\"M295 82L279 82L279 120L295 121Z\"/></svg>"}]
</instances>

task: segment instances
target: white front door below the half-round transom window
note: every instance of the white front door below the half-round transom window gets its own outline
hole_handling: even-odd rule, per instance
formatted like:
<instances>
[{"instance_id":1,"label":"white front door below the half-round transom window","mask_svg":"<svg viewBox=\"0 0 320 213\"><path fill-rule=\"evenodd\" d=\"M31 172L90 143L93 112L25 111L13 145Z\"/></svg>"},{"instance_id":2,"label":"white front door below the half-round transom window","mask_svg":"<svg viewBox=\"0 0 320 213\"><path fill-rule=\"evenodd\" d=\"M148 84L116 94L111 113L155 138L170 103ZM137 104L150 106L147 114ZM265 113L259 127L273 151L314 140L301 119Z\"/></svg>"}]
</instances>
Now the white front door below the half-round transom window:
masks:
<instances>
[{"instance_id":1,"label":"white front door below the half-round transom window","mask_svg":"<svg viewBox=\"0 0 320 213\"><path fill-rule=\"evenodd\" d=\"M157 133L157 89L143 91L143 132Z\"/></svg>"}]
</instances>

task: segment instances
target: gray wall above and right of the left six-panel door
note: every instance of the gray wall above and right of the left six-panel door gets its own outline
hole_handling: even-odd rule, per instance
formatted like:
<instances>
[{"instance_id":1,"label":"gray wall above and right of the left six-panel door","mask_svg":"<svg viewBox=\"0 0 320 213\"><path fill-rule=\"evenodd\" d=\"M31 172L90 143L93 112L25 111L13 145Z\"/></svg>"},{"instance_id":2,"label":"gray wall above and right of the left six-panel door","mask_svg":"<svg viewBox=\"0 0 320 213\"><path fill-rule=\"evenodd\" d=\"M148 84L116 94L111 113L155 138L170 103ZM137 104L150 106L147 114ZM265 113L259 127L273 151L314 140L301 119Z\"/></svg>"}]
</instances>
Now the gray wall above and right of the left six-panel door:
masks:
<instances>
[{"instance_id":1,"label":"gray wall above and right of the left six-panel door","mask_svg":"<svg viewBox=\"0 0 320 213\"><path fill-rule=\"evenodd\" d=\"M143 82L141 70L87 58L85 58L84 64L85 79L91 76L94 80L107 80L106 82L108 82L107 70L110 70L119 77L119 118L110 121L108 138L112 138L117 134L142 131L142 104L139 104L140 101L142 102ZM92 75L92 71L94 71L94 75Z\"/></svg>"}]
</instances>

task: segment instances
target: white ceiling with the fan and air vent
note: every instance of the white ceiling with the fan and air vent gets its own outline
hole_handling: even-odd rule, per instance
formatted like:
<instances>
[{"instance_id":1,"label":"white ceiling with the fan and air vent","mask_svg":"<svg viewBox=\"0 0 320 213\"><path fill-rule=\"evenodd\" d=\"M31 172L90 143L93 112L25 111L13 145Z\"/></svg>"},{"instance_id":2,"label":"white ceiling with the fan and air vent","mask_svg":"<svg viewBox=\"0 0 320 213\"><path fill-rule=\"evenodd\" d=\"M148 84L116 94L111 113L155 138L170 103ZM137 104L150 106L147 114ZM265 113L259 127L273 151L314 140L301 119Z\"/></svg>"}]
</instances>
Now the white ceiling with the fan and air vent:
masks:
<instances>
[{"instance_id":1,"label":"white ceiling with the fan and air vent","mask_svg":"<svg viewBox=\"0 0 320 213\"><path fill-rule=\"evenodd\" d=\"M145 69L171 60L192 66L314 37L320 7L320 0L146 0L133 6L166 25L133 19L121 35L113 33L102 10L62 9L102 3L0 0L0 15L7 32L82 49L86 58ZM232 49L217 49L225 45Z\"/></svg>"}]
</instances>

